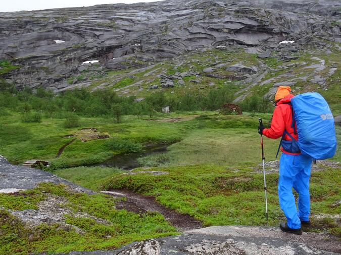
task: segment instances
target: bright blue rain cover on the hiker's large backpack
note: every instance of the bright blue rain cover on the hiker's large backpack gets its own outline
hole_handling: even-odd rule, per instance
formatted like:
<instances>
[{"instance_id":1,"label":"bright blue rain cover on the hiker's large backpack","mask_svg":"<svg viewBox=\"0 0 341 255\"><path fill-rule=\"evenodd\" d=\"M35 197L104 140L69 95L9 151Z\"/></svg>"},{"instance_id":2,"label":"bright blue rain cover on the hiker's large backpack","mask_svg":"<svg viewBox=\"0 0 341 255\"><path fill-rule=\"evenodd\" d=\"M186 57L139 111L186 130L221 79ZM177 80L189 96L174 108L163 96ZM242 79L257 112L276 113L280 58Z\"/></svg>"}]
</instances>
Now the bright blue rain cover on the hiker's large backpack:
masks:
<instances>
[{"instance_id":1,"label":"bright blue rain cover on the hiker's large backpack","mask_svg":"<svg viewBox=\"0 0 341 255\"><path fill-rule=\"evenodd\" d=\"M336 152L334 117L326 100L316 92L291 98L302 154L327 159Z\"/></svg>"}]
</instances>

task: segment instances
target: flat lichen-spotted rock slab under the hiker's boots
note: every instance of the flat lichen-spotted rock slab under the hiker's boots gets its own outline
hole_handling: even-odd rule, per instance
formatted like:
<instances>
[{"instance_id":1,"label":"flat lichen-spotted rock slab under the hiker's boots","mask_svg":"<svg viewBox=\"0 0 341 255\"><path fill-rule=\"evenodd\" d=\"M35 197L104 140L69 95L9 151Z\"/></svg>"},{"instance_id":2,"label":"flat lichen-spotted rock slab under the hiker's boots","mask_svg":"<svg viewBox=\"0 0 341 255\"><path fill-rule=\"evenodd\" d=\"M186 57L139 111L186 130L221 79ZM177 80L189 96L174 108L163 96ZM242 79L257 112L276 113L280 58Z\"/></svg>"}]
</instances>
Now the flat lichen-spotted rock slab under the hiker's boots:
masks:
<instances>
[{"instance_id":1,"label":"flat lichen-spotted rock slab under the hiker's boots","mask_svg":"<svg viewBox=\"0 0 341 255\"><path fill-rule=\"evenodd\" d=\"M341 251L340 245L335 237L330 239L324 234L304 233L297 236L274 227L214 226L191 230L179 236L135 242L112 251L70 254L336 254Z\"/></svg>"}]
</instances>

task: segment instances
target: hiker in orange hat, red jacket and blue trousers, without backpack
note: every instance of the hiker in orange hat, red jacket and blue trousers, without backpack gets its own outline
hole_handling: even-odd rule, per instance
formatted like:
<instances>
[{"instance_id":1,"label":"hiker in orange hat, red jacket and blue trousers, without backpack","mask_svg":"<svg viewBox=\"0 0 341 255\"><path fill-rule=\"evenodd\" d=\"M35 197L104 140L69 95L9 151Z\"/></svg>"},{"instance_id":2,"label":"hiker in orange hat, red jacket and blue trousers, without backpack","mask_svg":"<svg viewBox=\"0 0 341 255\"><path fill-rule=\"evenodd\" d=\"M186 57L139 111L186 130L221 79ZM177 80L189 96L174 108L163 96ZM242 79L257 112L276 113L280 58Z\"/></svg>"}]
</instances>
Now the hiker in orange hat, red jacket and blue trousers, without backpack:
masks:
<instances>
[{"instance_id":1,"label":"hiker in orange hat, red jacket and blue trousers, without backpack","mask_svg":"<svg viewBox=\"0 0 341 255\"><path fill-rule=\"evenodd\" d=\"M294 114L289 104L294 95L290 92L291 89L288 86L278 87L271 127L265 129L263 125L260 125L258 133L271 139L283 137L282 155L279 161L278 197L280 208L287 222L281 222L280 229L288 233L302 234L301 226L310 226L309 178L313 158L301 154L297 143L292 142L290 138L291 136L296 141L298 140L296 122L293 122ZM293 187L299 194L298 211Z\"/></svg>"}]
</instances>

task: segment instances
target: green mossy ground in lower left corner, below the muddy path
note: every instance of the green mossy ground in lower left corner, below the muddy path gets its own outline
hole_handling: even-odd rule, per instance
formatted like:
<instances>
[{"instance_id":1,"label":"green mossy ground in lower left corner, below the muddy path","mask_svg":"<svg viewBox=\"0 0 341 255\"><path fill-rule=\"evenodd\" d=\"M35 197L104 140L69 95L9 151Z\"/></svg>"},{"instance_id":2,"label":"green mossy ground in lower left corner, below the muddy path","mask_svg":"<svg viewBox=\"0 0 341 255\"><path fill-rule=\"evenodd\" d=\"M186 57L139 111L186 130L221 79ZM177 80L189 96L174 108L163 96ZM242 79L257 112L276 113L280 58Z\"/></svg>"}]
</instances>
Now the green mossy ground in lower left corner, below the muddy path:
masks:
<instances>
[{"instance_id":1,"label":"green mossy ground in lower left corner, below the muddy path","mask_svg":"<svg viewBox=\"0 0 341 255\"><path fill-rule=\"evenodd\" d=\"M12 216L7 210L0 210L0 254L109 249L132 241L176 234L174 227L159 213L139 215L116 210L115 201L111 197L74 193L64 185L41 183L33 190L19 194L0 194L0 203L4 209L36 209L39 201L52 195L66 199L68 202L64 206L73 213L88 215L65 215L65 223L81 231L57 223L31 226ZM107 224L99 223L94 218L105 220Z\"/></svg>"}]
</instances>

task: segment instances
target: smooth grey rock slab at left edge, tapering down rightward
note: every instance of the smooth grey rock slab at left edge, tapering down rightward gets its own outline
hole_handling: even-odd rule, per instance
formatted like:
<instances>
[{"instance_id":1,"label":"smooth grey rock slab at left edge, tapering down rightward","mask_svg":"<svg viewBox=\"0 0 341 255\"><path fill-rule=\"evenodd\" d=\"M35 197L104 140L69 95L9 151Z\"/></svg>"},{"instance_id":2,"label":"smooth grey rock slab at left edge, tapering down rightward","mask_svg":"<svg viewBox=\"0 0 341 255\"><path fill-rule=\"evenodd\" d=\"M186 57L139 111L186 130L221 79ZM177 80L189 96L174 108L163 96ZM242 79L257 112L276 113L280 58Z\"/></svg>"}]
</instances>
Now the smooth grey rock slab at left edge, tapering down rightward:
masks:
<instances>
[{"instance_id":1,"label":"smooth grey rock slab at left edge, tapering down rightward","mask_svg":"<svg viewBox=\"0 0 341 255\"><path fill-rule=\"evenodd\" d=\"M31 189L41 182L64 183L77 192L94 194L89 189L78 186L52 173L24 166L11 165L0 155L0 192L8 189Z\"/></svg>"}]
</instances>

